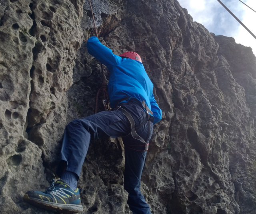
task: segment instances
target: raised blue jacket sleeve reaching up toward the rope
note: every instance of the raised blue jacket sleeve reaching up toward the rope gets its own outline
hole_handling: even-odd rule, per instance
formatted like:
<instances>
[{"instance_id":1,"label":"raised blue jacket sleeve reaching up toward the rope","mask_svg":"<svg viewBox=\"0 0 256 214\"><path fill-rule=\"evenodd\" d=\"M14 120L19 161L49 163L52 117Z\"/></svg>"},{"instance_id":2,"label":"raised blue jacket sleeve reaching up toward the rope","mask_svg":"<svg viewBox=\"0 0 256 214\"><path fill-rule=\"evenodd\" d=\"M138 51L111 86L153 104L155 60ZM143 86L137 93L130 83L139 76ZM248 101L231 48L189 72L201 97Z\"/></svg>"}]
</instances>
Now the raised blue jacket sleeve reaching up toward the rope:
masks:
<instances>
[{"instance_id":1,"label":"raised blue jacket sleeve reaching up toward the rope","mask_svg":"<svg viewBox=\"0 0 256 214\"><path fill-rule=\"evenodd\" d=\"M112 67L118 64L121 57L114 55L112 50L102 45L99 39L92 36L87 41L88 53L98 59L102 64L106 65L111 71Z\"/></svg>"}]
</instances>

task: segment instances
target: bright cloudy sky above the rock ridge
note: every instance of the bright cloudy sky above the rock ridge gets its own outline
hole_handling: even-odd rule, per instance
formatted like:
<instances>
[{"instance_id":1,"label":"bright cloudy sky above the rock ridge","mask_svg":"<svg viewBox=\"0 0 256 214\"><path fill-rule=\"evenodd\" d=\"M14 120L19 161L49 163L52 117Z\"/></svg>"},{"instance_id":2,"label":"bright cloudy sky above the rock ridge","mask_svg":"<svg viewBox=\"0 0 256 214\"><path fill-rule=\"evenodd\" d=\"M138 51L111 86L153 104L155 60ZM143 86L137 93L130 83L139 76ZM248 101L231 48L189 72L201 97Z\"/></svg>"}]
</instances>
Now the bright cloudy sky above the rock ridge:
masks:
<instances>
[{"instance_id":1,"label":"bright cloudy sky above the rock ridge","mask_svg":"<svg viewBox=\"0 0 256 214\"><path fill-rule=\"evenodd\" d=\"M236 43L251 47L256 55L256 39L217 0L178 0L195 22L215 35L233 37ZM221 0L256 35L256 0Z\"/></svg>"}]
</instances>

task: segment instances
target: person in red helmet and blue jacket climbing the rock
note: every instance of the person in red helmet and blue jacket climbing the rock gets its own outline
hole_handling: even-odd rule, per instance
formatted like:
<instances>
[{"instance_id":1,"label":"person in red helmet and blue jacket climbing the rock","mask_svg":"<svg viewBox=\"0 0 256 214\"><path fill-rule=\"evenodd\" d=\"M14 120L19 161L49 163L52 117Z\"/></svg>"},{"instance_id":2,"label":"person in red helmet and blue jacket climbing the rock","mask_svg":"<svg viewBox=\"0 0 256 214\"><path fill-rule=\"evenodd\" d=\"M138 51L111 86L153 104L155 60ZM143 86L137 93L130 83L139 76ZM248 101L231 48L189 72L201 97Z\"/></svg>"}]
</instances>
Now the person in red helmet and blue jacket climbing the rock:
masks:
<instances>
[{"instance_id":1,"label":"person in red helmet and blue jacket climbing the rock","mask_svg":"<svg viewBox=\"0 0 256 214\"><path fill-rule=\"evenodd\" d=\"M108 94L112 111L102 111L70 122L65 129L56 174L60 180L44 192L28 191L24 201L62 213L82 212L76 188L90 140L104 136L122 137L124 142L124 189L133 214L150 214L150 207L140 192L140 179L146 161L153 124L162 118L150 81L140 56L132 51L120 56L102 45L97 37L87 41L88 53L110 71Z\"/></svg>"}]
</instances>

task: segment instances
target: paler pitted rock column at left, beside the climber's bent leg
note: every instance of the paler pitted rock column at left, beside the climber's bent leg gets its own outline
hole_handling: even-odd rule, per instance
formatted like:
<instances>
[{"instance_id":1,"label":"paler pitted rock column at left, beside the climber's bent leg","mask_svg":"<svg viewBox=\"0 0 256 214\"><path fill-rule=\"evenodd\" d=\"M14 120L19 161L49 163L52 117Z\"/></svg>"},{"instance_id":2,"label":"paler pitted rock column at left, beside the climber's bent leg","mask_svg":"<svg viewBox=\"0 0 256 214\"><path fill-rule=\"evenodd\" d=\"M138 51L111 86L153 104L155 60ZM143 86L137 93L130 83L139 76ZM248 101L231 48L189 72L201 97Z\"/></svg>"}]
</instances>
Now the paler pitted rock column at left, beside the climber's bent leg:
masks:
<instances>
[{"instance_id":1,"label":"paler pitted rock column at left, beside the climber's bent leg","mask_svg":"<svg viewBox=\"0 0 256 214\"><path fill-rule=\"evenodd\" d=\"M21 213L28 208L22 195L48 186L45 166L56 160L51 157L66 124L65 91L83 38L82 5L80 0L0 1L2 213Z\"/></svg>"}]
</instances>

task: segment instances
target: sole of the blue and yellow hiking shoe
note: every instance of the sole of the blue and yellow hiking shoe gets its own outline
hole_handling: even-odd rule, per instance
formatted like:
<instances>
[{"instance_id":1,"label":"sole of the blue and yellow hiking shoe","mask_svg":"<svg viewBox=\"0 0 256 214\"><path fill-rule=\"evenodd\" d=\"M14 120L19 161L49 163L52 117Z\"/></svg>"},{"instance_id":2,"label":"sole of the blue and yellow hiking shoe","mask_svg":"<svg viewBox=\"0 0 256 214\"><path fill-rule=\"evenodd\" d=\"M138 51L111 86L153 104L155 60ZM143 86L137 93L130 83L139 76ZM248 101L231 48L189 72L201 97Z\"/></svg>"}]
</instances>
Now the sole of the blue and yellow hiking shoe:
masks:
<instances>
[{"instance_id":1,"label":"sole of the blue and yellow hiking shoe","mask_svg":"<svg viewBox=\"0 0 256 214\"><path fill-rule=\"evenodd\" d=\"M72 213L78 213L83 211L82 205L56 204L53 202L46 202L46 201L38 200L36 198L30 198L28 194L24 195L23 201L28 202L36 207L43 208L45 210L57 211L63 214L72 214Z\"/></svg>"}]
</instances>

